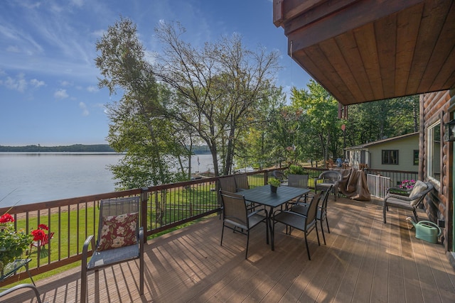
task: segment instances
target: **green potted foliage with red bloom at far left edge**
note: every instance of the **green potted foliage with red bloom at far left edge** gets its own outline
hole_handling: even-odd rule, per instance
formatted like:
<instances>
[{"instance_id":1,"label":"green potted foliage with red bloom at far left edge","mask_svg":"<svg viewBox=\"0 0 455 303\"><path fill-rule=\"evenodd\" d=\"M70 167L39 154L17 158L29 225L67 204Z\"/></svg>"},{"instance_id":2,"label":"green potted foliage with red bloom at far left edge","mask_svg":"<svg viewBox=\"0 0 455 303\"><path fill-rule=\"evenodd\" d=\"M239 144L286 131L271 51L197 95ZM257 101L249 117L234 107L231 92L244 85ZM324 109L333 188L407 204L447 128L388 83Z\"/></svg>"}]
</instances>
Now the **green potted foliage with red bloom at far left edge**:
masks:
<instances>
[{"instance_id":1,"label":"green potted foliage with red bloom at far left edge","mask_svg":"<svg viewBox=\"0 0 455 303\"><path fill-rule=\"evenodd\" d=\"M17 233L14 230L14 219L10 214L0 217L0 262L6 265L21 256L30 247L31 235Z\"/></svg>"}]
</instances>

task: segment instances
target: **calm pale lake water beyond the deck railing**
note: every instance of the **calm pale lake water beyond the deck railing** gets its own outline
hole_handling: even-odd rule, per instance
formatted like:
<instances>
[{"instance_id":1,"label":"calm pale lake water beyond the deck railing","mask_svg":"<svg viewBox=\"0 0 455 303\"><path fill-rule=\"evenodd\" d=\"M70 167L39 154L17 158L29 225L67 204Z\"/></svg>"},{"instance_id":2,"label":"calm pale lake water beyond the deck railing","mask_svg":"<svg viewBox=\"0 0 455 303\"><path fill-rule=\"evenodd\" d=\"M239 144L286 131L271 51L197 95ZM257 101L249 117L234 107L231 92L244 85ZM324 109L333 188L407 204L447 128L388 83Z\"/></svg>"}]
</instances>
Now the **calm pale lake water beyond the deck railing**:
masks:
<instances>
[{"instance_id":1,"label":"calm pale lake water beyond the deck railing","mask_svg":"<svg viewBox=\"0 0 455 303\"><path fill-rule=\"evenodd\" d=\"M0 207L114 192L107 165L116 153L0 153ZM198 165L199 159L199 165ZM191 170L213 171L211 155L193 155Z\"/></svg>"}]
</instances>

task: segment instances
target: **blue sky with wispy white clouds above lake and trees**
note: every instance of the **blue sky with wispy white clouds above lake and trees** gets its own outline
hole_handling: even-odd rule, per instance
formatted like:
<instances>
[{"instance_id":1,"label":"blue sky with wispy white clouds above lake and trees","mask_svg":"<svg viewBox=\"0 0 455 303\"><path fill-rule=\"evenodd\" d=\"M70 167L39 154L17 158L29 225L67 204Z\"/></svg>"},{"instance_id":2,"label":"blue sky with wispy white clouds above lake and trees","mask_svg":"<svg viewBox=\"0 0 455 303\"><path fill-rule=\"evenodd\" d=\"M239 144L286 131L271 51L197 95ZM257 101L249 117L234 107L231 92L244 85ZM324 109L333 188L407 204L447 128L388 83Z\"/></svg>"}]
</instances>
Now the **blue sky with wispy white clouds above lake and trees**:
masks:
<instances>
[{"instance_id":1,"label":"blue sky with wispy white clouds above lake and trees","mask_svg":"<svg viewBox=\"0 0 455 303\"><path fill-rule=\"evenodd\" d=\"M309 81L287 55L272 0L1 0L0 145L107 143L105 104L120 96L97 87L95 43L119 16L137 24L146 50L159 51L160 20L179 21L196 47L240 33L248 48L279 50L286 92Z\"/></svg>"}]
</instances>

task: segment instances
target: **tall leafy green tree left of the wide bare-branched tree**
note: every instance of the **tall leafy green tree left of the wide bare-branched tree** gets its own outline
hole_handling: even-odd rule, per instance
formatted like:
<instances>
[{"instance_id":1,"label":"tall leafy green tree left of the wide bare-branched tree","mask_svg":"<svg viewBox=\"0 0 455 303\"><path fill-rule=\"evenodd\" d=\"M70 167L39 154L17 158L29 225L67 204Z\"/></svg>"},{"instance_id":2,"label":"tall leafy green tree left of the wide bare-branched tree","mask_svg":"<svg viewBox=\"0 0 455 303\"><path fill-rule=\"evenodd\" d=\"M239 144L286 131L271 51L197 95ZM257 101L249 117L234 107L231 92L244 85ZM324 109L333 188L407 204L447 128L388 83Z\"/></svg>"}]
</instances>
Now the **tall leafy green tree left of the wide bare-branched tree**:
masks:
<instances>
[{"instance_id":1,"label":"tall leafy green tree left of the wide bare-branched tree","mask_svg":"<svg viewBox=\"0 0 455 303\"><path fill-rule=\"evenodd\" d=\"M100 54L95 63L102 75L99 87L123 94L119 102L107 106L111 121L107 141L117 152L127 152L119 165L111 167L119 185L134 188L171 182L168 155L179 155L181 149L176 148L171 126L163 121L162 103L169 92L156 82L136 26L121 18L109 26L96 48Z\"/></svg>"}]
</instances>

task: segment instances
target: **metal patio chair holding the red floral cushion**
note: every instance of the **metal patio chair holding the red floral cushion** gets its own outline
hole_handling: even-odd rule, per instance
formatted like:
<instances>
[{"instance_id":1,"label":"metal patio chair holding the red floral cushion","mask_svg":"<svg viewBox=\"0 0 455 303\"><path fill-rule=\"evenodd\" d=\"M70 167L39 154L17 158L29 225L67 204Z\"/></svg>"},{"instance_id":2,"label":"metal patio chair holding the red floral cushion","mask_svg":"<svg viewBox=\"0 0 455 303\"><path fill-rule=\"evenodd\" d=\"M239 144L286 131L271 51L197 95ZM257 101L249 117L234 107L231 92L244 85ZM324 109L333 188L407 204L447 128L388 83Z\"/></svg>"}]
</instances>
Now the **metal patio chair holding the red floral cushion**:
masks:
<instances>
[{"instance_id":1,"label":"metal patio chair holding the red floral cushion","mask_svg":"<svg viewBox=\"0 0 455 303\"><path fill-rule=\"evenodd\" d=\"M139 228L139 200L139 197L101 200L97 241L89 236L82 248L80 302L87 299L87 272L95 270L96 283L98 270L136 259L139 294L144 294L144 230ZM87 262L90 244L92 258Z\"/></svg>"}]
</instances>

